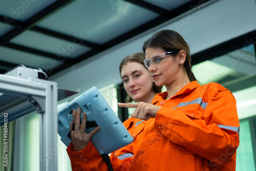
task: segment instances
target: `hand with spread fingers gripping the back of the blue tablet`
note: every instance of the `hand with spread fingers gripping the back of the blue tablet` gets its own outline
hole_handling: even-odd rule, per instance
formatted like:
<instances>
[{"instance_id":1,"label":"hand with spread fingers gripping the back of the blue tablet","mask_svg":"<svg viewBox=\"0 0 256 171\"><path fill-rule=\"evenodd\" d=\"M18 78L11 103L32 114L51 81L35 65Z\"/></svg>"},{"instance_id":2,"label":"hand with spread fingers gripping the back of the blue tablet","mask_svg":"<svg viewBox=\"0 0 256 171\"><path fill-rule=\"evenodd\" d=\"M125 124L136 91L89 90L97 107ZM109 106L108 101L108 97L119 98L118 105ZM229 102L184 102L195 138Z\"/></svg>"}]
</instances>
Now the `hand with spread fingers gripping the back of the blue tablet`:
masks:
<instances>
[{"instance_id":1,"label":"hand with spread fingers gripping the back of the blue tablet","mask_svg":"<svg viewBox=\"0 0 256 171\"><path fill-rule=\"evenodd\" d=\"M91 141L91 138L100 130L97 126L90 134L86 133L87 115L82 113L82 123L80 125L81 108L73 110L73 121L70 122L71 141L75 152L81 151ZM75 130L72 130L75 123Z\"/></svg>"}]
</instances>

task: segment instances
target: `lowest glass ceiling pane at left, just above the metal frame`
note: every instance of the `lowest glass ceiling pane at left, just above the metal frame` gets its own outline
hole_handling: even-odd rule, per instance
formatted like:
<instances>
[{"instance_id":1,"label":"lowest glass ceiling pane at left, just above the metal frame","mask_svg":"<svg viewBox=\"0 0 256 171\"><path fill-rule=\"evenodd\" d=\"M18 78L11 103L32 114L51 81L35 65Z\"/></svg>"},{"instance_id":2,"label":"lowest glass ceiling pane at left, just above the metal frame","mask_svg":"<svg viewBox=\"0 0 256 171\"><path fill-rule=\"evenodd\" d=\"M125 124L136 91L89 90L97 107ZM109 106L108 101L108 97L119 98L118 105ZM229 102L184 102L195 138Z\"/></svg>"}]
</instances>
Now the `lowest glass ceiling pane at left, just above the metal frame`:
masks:
<instances>
[{"instance_id":1,"label":"lowest glass ceiling pane at left, just above the metal frame","mask_svg":"<svg viewBox=\"0 0 256 171\"><path fill-rule=\"evenodd\" d=\"M40 55L0 47L0 60L13 63L14 65L24 65L26 67L41 68L48 73L61 65L62 61L47 58Z\"/></svg>"}]
</instances>

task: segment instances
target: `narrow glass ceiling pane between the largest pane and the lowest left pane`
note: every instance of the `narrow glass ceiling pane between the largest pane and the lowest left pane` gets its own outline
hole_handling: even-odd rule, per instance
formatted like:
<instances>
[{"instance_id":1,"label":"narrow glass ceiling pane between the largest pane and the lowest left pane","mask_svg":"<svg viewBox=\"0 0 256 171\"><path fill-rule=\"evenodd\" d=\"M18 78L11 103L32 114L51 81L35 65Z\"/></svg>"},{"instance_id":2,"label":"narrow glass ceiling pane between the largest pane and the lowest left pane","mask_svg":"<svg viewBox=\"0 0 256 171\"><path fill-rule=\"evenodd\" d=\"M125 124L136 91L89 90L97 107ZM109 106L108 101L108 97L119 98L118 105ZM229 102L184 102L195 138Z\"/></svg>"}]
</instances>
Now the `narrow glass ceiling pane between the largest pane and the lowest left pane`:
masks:
<instances>
[{"instance_id":1,"label":"narrow glass ceiling pane between the largest pane and the lowest left pane","mask_svg":"<svg viewBox=\"0 0 256 171\"><path fill-rule=\"evenodd\" d=\"M13 44L49 52L56 56L75 58L91 50L91 48L81 45L81 41L83 40L80 40L79 38L74 38L73 41L66 41L60 38L28 30L22 34L19 34L10 42Z\"/></svg>"}]
</instances>

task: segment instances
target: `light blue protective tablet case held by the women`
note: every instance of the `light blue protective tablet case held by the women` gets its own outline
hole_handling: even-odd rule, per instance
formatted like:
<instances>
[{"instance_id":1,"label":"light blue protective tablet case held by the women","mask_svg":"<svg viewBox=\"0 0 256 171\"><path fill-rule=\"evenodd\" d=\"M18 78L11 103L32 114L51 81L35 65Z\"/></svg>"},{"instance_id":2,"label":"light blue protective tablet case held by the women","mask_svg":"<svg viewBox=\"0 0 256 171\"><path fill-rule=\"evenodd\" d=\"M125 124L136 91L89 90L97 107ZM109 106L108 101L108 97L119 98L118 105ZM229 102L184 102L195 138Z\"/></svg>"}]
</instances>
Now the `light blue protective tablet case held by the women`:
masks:
<instances>
[{"instance_id":1,"label":"light blue protective tablet case held by the women","mask_svg":"<svg viewBox=\"0 0 256 171\"><path fill-rule=\"evenodd\" d=\"M120 119L105 101L96 87L84 92L58 110L58 134L67 146L70 144L70 122L73 121L71 111L80 107L87 114L87 129L89 134L95 127L100 126L91 141L99 154L109 154L133 142L133 137L126 130ZM82 121L82 112L81 112Z\"/></svg>"}]
</instances>

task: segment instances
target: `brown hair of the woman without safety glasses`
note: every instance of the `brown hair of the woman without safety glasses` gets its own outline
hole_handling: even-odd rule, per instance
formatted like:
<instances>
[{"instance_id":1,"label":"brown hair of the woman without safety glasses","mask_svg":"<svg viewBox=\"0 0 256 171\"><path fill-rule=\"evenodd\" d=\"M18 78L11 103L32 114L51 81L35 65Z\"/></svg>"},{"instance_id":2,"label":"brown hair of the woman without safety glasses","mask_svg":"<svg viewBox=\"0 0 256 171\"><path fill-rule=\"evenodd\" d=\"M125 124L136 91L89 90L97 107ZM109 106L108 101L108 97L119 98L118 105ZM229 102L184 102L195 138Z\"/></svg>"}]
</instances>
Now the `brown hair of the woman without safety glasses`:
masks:
<instances>
[{"instance_id":1,"label":"brown hair of the woman without safety glasses","mask_svg":"<svg viewBox=\"0 0 256 171\"><path fill-rule=\"evenodd\" d=\"M141 65L143 65L145 67L145 65L144 65L144 59L145 58L146 57L145 57L144 52L134 53L132 55L128 55L125 58L123 58L123 60L121 61L120 65L119 65L120 75L121 75L121 71L122 71L123 66L126 65L128 62L137 62L137 63L140 63ZM146 69L146 67L145 67L145 69ZM156 86L155 82L153 82L152 89L155 93L160 93L161 90L162 90L162 86L158 87L158 86ZM130 96L127 95L127 98L125 99L125 102L129 103L129 102L132 102L132 101L133 101L133 99Z\"/></svg>"}]
</instances>

